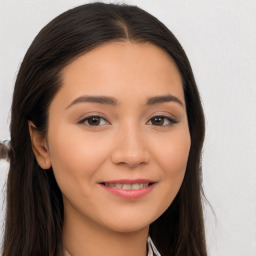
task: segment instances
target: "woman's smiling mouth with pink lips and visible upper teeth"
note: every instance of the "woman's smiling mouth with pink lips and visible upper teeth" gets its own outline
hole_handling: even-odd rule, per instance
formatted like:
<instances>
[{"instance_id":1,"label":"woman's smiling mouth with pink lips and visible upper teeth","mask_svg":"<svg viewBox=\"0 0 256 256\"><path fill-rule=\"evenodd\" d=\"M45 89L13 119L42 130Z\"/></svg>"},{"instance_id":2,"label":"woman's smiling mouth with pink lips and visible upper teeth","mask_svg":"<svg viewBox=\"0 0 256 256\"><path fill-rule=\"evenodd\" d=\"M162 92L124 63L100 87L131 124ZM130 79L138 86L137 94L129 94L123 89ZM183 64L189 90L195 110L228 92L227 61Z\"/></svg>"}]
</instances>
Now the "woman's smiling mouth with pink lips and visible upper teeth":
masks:
<instances>
[{"instance_id":1,"label":"woman's smiling mouth with pink lips and visible upper teeth","mask_svg":"<svg viewBox=\"0 0 256 256\"><path fill-rule=\"evenodd\" d=\"M146 179L113 180L100 183L105 191L127 199L142 197L152 191L155 185L156 182Z\"/></svg>"}]
</instances>

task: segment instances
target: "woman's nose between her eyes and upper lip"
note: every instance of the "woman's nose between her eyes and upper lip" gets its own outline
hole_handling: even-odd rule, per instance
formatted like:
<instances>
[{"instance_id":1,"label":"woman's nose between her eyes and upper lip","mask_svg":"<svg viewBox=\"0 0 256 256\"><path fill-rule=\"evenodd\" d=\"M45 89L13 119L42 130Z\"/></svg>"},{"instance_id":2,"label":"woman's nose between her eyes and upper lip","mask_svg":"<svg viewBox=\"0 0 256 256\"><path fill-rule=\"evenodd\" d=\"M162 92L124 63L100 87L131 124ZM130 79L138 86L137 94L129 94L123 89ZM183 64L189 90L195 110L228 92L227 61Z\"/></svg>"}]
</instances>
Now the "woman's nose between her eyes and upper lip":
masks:
<instances>
[{"instance_id":1,"label":"woman's nose between her eyes and upper lip","mask_svg":"<svg viewBox=\"0 0 256 256\"><path fill-rule=\"evenodd\" d=\"M150 155L143 132L132 125L120 129L113 141L111 160L114 164L135 168L149 163Z\"/></svg>"}]
</instances>

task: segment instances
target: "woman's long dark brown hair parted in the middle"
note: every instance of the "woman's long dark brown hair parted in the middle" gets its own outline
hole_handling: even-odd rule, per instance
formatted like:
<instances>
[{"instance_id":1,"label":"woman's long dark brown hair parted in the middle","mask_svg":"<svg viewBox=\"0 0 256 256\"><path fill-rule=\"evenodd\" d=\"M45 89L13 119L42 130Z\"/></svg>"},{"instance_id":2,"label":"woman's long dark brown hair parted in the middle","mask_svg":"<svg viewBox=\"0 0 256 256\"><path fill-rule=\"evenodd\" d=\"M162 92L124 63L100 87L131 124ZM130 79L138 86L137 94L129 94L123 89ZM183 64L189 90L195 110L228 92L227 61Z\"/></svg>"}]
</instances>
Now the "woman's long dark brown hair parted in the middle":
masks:
<instances>
[{"instance_id":1,"label":"woman's long dark brown hair parted in the middle","mask_svg":"<svg viewBox=\"0 0 256 256\"><path fill-rule=\"evenodd\" d=\"M127 40L150 42L175 61L182 76L191 136L181 188L166 212L150 225L150 236L162 256L207 255L200 171L204 115L186 54L175 36L140 8L93 3L68 10L46 25L29 47L17 75L4 256L62 255L61 191L52 170L42 170L35 159L28 120L46 133L49 105L61 87L63 67L105 42Z\"/></svg>"}]
</instances>

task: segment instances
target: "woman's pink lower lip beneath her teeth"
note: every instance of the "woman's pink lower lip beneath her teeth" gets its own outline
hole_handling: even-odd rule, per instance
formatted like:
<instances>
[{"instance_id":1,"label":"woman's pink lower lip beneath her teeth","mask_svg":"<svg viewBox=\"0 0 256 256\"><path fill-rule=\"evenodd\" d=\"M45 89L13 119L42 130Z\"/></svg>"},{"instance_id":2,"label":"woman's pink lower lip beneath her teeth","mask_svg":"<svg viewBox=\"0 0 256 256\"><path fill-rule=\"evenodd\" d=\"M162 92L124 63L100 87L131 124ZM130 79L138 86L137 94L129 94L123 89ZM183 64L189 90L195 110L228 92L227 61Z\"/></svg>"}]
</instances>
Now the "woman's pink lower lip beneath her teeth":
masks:
<instances>
[{"instance_id":1,"label":"woman's pink lower lip beneath her teeth","mask_svg":"<svg viewBox=\"0 0 256 256\"><path fill-rule=\"evenodd\" d=\"M110 193L113 193L114 195L127 198L127 199L136 199L139 197L142 197L146 194L148 194L152 189L155 187L156 183L145 187L145 188L140 188L140 189L135 189L135 190L125 190L125 189L120 189L120 188L115 188L115 187L108 187L103 184L99 184L102 188L107 190Z\"/></svg>"}]
</instances>

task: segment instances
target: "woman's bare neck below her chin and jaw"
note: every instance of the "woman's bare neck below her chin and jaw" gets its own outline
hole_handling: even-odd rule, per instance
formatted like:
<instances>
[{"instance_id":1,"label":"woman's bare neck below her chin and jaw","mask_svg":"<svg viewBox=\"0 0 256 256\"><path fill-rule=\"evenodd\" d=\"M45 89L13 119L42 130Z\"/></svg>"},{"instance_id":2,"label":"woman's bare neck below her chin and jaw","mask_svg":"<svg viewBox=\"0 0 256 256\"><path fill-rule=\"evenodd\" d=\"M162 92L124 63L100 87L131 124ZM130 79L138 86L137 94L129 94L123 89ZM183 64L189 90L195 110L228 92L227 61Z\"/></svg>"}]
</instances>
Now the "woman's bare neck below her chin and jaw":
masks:
<instances>
[{"instance_id":1,"label":"woman's bare neck below her chin and jaw","mask_svg":"<svg viewBox=\"0 0 256 256\"><path fill-rule=\"evenodd\" d=\"M85 216L64 215L63 244L71 256L146 256L148 227L133 232L117 232L100 226Z\"/></svg>"}]
</instances>

